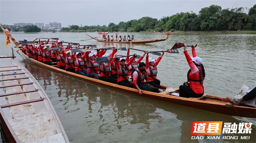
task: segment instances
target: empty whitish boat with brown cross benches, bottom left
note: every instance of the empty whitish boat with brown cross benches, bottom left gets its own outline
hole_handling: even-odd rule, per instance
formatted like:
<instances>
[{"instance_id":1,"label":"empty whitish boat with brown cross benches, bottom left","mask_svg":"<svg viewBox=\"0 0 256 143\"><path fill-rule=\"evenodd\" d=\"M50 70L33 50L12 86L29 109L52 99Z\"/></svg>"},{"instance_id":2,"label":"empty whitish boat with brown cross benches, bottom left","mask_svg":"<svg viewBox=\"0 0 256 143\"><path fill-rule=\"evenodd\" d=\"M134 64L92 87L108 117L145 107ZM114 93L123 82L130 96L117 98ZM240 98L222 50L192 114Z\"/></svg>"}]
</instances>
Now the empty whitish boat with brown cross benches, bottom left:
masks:
<instances>
[{"instance_id":1,"label":"empty whitish boat with brown cross benches, bottom left","mask_svg":"<svg viewBox=\"0 0 256 143\"><path fill-rule=\"evenodd\" d=\"M0 121L9 141L69 143L52 103L37 80L10 57L0 57L0 63Z\"/></svg>"}]
</instances>

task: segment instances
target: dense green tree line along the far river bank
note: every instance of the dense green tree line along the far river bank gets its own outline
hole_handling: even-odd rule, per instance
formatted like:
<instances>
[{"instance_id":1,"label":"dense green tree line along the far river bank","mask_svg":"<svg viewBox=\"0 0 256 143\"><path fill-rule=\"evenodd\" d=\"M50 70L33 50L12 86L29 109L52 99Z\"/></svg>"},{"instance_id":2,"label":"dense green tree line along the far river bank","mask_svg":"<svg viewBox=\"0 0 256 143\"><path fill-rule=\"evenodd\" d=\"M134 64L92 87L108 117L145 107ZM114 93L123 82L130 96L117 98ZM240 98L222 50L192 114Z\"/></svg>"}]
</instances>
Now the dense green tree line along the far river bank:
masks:
<instances>
[{"instance_id":1,"label":"dense green tree line along the far river bank","mask_svg":"<svg viewBox=\"0 0 256 143\"><path fill-rule=\"evenodd\" d=\"M249 10L249 11L248 11ZM248 14L246 12L248 11ZM256 4L252 8L227 8L211 5L202 8L197 15L194 12L181 12L172 16L162 17L160 20L142 17L118 24L84 26L71 25L63 27L61 32L95 32L95 31L239 31L256 30Z\"/></svg>"}]
</instances>

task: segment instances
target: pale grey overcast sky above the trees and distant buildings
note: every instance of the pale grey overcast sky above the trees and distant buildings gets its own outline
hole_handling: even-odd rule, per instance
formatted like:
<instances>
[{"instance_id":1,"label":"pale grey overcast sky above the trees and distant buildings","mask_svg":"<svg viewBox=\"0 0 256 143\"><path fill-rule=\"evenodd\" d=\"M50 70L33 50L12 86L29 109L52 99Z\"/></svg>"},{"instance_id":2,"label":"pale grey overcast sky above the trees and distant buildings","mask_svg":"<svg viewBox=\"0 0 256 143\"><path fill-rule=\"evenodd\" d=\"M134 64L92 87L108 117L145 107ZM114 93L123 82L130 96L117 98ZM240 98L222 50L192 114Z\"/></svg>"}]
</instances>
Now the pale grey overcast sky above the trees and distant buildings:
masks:
<instances>
[{"instance_id":1,"label":"pale grey overcast sky above the trees and distant buildings","mask_svg":"<svg viewBox=\"0 0 256 143\"><path fill-rule=\"evenodd\" d=\"M149 16L161 19L180 12L198 14L210 5L251 8L256 0L0 0L1 24L59 22L68 25L118 24ZM248 13L248 10L245 11Z\"/></svg>"}]
</instances>

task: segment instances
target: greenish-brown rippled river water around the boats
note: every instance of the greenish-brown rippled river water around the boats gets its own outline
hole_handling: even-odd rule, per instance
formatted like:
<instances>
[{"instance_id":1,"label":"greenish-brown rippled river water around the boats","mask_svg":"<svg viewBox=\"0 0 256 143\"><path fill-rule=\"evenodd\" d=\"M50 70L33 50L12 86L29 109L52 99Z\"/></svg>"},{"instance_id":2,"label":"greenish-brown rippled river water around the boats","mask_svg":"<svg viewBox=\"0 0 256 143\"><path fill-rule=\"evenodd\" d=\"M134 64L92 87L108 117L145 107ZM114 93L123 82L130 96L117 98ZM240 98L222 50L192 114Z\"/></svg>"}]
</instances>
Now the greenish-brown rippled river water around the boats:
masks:
<instances>
[{"instance_id":1,"label":"greenish-brown rippled river water around the boats","mask_svg":"<svg viewBox=\"0 0 256 143\"><path fill-rule=\"evenodd\" d=\"M95 32L88 33L98 37ZM84 33L11 33L18 41L23 38L34 40L39 37L58 37L63 41L94 44L97 47L129 47L161 51L172 48L176 42L197 44L196 53L203 60L206 70L205 93L222 97L235 96L243 84L252 89L256 86L256 34L255 33L172 33L169 39L150 44L106 44L89 39ZM114 33L110 33L110 36ZM135 35L136 40L165 38L163 33L120 33ZM0 33L0 55L11 56L11 43L5 47L5 35ZM100 39L100 38L99 38ZM53 72L28 61L15 50L15 60L31 72L49 96L70 142L256 142L256 119L227 116L179 106L155 99L114 90L95 83ZM179 87L187 80L189 69L183 49L180 53L165 53L158 64L158 79L161 84ZM191 48L188 48L192 56ZM110 51L107 51L110 53ZM130 52L143 55L143 52ZM125 51L118 52L126 55ZM150 55L154 59L158 56ZM143 59L145 62L145 59ZM253 123L248 140L241 134L222 134L220 139L192 139L193 121L221 121L223 123ZM211 136L211 135L208 135ZM239 136L238 139L222 139L222 136ZM201 137L202 138L202 137Z\"/></svg>"}]
</instances>

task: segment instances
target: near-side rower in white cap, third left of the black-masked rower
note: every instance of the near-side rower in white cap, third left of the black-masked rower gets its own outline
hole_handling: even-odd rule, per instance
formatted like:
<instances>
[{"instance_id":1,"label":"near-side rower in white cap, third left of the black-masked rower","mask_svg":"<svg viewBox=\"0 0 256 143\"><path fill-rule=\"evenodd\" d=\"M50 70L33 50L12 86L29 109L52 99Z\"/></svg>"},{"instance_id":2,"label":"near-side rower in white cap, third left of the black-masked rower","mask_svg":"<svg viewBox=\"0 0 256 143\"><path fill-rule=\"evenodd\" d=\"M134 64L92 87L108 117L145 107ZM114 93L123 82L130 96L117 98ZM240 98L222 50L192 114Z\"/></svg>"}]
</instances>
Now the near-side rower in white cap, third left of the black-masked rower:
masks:
<instances>
[{"instance_id":1,"label":"near-side rower in white cap, third left of the black-masked rower","mask_svg":"<svg viewBox=\"0 0 256 143\"><path fill-rule=\"evenodd\" d=\"M97 52L99 52L99 49L97 50ZM98 74L98 63L95 59L96 54L94 52L86 52L85 55L87 65L87 76L90 78L100 79L100 75Z\"/></svg>"}]
</instances>

